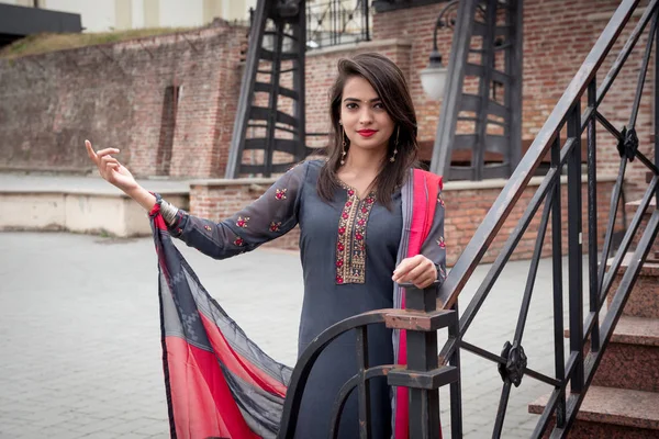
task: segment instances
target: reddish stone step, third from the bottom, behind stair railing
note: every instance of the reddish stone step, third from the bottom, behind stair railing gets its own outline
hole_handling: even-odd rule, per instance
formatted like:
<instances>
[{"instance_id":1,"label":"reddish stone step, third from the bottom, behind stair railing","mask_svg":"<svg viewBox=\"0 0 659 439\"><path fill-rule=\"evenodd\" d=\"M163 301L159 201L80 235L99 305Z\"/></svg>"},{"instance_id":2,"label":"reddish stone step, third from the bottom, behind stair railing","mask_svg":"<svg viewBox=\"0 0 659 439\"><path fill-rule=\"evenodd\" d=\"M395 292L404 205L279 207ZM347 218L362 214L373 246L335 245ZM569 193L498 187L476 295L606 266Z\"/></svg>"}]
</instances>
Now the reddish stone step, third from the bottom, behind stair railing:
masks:
<instances>
[{"instance_id":1,"label":"reddish stone step, third from the bottom, behind stair railing","mask_svg":"<svg viewBox=\"0 0 659 439\"><path fill-rule=\"evenodd\" d=\"M623 259L618 273L613 280L611 290L608 290L608 295L606 296L607 304L613 300L615 290L623 279L632 256L633 254L628 252ZM608 264L611 264L611 261L608 260ZM659 318L659 263L646 261L643 266L632 294L625 304L623 315Z\"/></svg>"}]
</instances>

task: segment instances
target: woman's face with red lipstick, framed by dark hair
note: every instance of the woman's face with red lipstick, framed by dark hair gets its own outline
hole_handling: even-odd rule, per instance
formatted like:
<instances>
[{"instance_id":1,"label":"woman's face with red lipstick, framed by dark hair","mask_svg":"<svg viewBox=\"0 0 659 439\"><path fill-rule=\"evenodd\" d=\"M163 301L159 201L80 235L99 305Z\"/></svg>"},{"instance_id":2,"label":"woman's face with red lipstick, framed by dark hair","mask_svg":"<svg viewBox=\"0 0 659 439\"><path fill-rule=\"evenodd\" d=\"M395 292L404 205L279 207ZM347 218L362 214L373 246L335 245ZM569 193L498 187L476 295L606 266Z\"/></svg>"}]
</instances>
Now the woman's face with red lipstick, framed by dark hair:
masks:
<instances>
[{"instance_id":1,"label":"woman's face with red lipstick, framed by dark hair","mask_svg":"<svg viewBox=\"0 0 659 439\"><path fill-rule=\"evenodd\" d=\"M371 85L360 76L348 78L340 101L340 121L350 148L387 154L394 123Z\"/></svg>"}]
</instances>

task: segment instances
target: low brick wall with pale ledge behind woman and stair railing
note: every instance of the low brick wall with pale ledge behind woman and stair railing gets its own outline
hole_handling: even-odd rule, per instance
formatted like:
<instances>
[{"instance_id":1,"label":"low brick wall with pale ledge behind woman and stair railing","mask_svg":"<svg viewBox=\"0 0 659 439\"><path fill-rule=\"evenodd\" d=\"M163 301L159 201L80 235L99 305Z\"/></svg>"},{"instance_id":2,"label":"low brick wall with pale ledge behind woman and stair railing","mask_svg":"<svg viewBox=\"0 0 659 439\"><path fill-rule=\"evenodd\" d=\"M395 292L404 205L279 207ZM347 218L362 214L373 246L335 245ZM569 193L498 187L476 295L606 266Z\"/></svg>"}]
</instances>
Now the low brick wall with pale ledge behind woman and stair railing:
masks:
<instances>
[{"instance_id":1,"label":"low brick wall with pale ledge behind woman and stair railing","mask_svg":"<svg viewBox=\"0 0 659 439\"><path fill-rule=\"evenodd\" d=\"M501 251L505 240L514 229L522 217L524 209L537 190L537 180L534 181L524 192L517 205L511 212L507 221L501 228L501 232L490 246L490 249L483 257L483 262L492 262ZM275 182L273 179L243 179L243 180L210 180L199 181L191 184L190 192L190 213L213 221L222 221L232 216L241 209L248 205L252 201L260 196ZM604 233L608 218L607 204L613 189L612 178L600 178L597 182L597 198L602 200L597 207L597 243L600 247L604 241ZM483 217L494 203L494 200L501 192L504 181L496 180L490 182L448 182L444 188L444 200L446 203L445 235L448 249L449 266L453 266L460 256L473 233L481 224ZM561 206L563 209L563 224L567 224L567 190L563 185L561 196ZM587 207L587 185L583 184L583 248L588 248L588 207ZM529 259L533 255L535 239L538 226L540 224L541 209L532 221L528 230L517 245L511 259ZM619 225L621 222L618 221ZM618 227L619 228L619 227ZM562 229L563 255L567 254L567 226ZM268 243L267 246L286 250L299 249L300 233L295 227L287 235ZM545 237L543 256L551 255L551 233Z\"/></svg>"}]
</instances>

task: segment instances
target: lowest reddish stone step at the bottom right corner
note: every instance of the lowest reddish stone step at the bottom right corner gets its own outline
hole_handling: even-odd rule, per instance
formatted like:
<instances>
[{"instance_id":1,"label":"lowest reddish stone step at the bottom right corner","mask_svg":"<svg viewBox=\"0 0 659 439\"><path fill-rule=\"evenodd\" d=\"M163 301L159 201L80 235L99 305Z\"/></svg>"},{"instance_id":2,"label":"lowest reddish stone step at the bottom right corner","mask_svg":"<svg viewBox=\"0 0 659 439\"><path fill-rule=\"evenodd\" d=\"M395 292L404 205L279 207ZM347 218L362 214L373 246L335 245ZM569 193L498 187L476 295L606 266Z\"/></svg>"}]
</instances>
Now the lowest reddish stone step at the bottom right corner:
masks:
<instances>
[{"instance_id":1,"label":"lowest reddish stone step at the bottom right corner","mask_svg":"<svg viewBox=\"0 0 659 439\"><path fill-rule=\"evenodd\" d=\"M548 398L529 404L528 413L541 414ZM569 437L659 438L659 393L591 385Z\"/></svg>"}]
</instances>

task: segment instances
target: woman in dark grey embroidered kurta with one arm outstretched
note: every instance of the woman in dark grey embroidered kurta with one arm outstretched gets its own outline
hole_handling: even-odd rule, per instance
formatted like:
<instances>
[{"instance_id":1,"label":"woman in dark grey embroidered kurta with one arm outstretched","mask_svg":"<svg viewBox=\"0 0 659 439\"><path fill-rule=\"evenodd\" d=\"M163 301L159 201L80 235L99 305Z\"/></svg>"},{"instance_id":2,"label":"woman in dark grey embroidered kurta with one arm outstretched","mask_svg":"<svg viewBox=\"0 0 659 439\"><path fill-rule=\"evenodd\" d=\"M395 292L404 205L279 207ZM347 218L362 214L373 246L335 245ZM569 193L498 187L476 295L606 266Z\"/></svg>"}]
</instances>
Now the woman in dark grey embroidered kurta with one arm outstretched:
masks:
<instances>
[{"instance_id":1,"label":"woman in dark grey embroidered kurta with one arm outstretched","mask_svg":"<svg viewBox=\"0 0 659 439\"><path fill-rule=\"evenodd\" d=\"M330 116L333 136L326 160L293 167L261 198L220 224L179 211L139 187L113 157L119 149L94 153L89 142L86 147L105 180L147 211L157 204L172 236L213 258L253 250L299 225L304 274L301 353L319 334L344 318L401 307L396 283L426 288L445 278L442 183L427 172L412 171L416 116L401 70L378 54L339 60ZM412 180L416 181L414 195L407 196ZM435 188L422 188L418 181ZM427 236L411 251L405 222L412 199L428 193L436 196L427 204ZM389 329L369 329L368 341L370 365L404 362L404 341L399 345L398 335ZM355 352L355 337L346 334L320 356L305 387L297 437L326 437L338 390L356 372ZM396 438L403 437L404 394L396 405L386 380L377 379L371 395L372 437L390 437L392 426ZM358 437L357 413L353 395L344 409L339 437Z\"/></svg>"}]
</instances>

